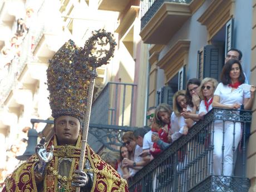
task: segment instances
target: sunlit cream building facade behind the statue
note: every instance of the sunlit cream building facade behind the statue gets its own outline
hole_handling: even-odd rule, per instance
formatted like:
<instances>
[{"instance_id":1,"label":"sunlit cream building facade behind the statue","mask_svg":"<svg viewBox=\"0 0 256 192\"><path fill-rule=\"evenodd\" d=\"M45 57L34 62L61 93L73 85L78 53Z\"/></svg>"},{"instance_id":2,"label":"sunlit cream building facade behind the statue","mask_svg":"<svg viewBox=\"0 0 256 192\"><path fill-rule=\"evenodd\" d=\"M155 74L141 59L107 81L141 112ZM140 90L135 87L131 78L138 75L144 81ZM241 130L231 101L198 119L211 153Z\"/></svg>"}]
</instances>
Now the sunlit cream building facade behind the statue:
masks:
<instances>
[{"instance_id":1,"label":"sunlit cream building facade behind the statue","mask_svg":"<svg viewBox=\"0 0 256 192\"><path fill-rule=\"evenodd\" d=\"M1 183L26 149L31 119L51 119L48 60L69 39L83 47L92 31L104 28L117 42L109 65L97 68L88 136L93 150L118 151L120 130L144 125L147 45L139 36L139 9L140 1L0 1ZM33 129L52 134L46 123Z\"/></svg>"}]
</instances>

